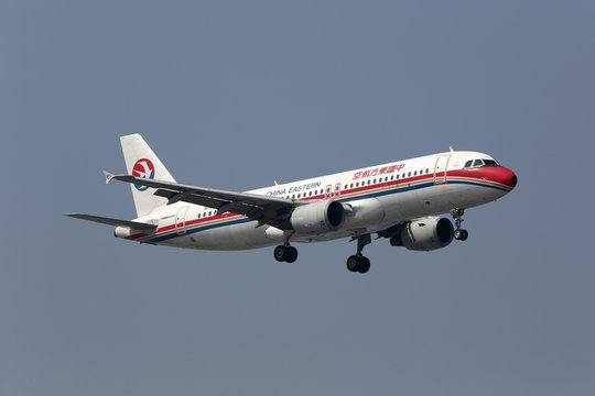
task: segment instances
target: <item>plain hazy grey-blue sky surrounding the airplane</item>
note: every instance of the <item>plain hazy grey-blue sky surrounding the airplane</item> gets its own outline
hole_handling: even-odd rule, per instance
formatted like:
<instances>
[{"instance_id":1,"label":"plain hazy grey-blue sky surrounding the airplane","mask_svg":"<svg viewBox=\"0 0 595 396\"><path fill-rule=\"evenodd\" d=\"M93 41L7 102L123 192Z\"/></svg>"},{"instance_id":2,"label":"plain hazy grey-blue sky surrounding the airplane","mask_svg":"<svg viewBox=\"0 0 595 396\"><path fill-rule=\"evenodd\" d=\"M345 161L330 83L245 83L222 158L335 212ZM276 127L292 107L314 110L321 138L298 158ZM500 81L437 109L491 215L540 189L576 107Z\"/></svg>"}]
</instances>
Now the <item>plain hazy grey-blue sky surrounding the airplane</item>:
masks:
<instances>
[{"instance_id":1,"label":"plain hazy grey-blue sky surrounding the airplane","mask_svg":"<svg viewBox=\"0 0 595 396\"><path fill-rule=\"evenodd\" d=\"M593 1L0 4L0 395L589 395ZM467 242L183 251L133 217L118 136L246 190L448 145L519 176ZM584 179L586 173L587 179ZM8 175L8 178L6 177Z\"/></svg>"}]
</instances>

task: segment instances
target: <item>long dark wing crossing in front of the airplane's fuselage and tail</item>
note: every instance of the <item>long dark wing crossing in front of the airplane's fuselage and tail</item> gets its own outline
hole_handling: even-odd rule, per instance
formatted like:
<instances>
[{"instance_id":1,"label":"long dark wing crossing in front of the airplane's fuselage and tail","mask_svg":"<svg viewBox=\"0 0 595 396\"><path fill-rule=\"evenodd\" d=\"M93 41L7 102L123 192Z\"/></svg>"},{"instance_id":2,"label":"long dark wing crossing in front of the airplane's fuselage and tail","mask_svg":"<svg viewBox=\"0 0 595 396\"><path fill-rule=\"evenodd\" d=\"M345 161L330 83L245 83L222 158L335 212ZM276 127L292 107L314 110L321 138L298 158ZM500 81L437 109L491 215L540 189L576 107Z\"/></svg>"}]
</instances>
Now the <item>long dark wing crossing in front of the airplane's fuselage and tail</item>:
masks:
<instances>
[{"instance_id":1,"label":"long dark wing crossing in front of the airplane's fuselage and tail","mask_svg":"<svg viewBox=\"0 0 595 396\"><path fill-rule=\"evenodd\" d=\"M106 174L106 180L117 179L136 185L155 188L153 193L167 198L167 204L184 201L217 209L218 213L232 212L244 215L259 222L281 230L290 230L288 219L296 206L304 205L300 200L267 197L258 194L227 191L215 188L183 185L172 182L153 180L132 175ZM106 182L106 183L107 183Z\"/></svg>"}]
</instances>

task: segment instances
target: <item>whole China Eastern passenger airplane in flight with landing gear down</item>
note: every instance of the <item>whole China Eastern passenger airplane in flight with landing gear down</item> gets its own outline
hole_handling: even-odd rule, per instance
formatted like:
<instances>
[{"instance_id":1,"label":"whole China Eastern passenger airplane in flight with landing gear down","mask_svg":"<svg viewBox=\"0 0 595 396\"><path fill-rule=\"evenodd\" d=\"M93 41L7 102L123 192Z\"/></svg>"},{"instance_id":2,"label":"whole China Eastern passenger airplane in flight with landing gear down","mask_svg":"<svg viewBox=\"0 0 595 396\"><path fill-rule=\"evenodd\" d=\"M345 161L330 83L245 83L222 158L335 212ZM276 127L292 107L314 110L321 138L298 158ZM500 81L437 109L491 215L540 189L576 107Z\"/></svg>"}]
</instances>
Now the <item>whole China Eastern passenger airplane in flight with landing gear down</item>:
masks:
<instances>
[{"instance_id":1,"label":"whole China Eastern passenger airplane in flight with landing gear down","mask_svg":"<svg viewBox=\"0 0 595 396\"><path fill-rule=\"evenodd\" d=\"M120 138L128 174L104 170L106 184L130 184L137 218L67 213L116 227L115 237L185 249L237 251L275 245L293 263L292 243L357 241L347 270L367 273L364 248L386 238L392 246L432 251L465 241L465 209L495 201L517 185L491 156L454 151L394 161L246 193L178 184L140 134ZM455 222L443 215L450 213Z\"/></svg>"}]
</instances>

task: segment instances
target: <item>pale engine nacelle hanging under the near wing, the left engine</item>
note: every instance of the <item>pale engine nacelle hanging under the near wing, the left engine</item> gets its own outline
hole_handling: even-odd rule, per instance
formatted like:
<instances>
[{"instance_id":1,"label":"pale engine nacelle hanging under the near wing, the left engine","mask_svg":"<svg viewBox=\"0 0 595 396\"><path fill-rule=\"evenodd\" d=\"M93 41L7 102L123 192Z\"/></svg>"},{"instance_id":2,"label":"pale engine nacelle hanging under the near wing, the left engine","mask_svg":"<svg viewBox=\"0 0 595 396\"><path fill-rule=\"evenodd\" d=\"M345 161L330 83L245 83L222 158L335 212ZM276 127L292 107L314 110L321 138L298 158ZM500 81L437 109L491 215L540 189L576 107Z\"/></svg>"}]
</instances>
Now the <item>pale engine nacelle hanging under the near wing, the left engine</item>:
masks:
<instances>
[{"instance_id":1,"label":"pale engine nacelle hanging under the near wing, the left engine","mask_svg":"<svg viewBox=\"0 0 595 396\"><path fill-rule=\"evenodd\" d=\"M345 209L337 201L317 201L295 208L290 221L298 233L322 234L336 231L343 226Z\"/></svg>"}]
</instances>

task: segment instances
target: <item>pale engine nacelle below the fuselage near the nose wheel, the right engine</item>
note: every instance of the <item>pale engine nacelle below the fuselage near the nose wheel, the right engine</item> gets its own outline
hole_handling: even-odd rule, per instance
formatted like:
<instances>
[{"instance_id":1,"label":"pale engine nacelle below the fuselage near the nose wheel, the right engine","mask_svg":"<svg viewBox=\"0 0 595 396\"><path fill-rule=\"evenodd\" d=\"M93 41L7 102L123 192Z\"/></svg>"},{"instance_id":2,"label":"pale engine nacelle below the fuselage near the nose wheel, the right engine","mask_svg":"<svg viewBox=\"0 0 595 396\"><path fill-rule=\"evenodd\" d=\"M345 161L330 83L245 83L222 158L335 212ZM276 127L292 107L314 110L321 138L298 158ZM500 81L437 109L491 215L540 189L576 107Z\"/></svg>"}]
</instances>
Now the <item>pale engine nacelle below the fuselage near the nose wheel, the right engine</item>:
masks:
<instances>
[{"instance_id":1,"label":"pale engine nacelle below the fuselage near the nose wheel, the right engine","mask_svg":"<svg viewBox=\"0 0 595 396\"><path fill-rule=\"evenodd\" d=\"M409 221L390 239L393 246L413 251L431 251L447 246L453 241L454 227L446 218L429 217Z\"/></svg>"}]
</instances>

